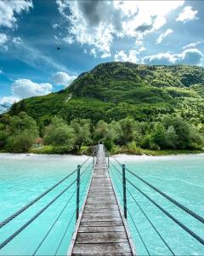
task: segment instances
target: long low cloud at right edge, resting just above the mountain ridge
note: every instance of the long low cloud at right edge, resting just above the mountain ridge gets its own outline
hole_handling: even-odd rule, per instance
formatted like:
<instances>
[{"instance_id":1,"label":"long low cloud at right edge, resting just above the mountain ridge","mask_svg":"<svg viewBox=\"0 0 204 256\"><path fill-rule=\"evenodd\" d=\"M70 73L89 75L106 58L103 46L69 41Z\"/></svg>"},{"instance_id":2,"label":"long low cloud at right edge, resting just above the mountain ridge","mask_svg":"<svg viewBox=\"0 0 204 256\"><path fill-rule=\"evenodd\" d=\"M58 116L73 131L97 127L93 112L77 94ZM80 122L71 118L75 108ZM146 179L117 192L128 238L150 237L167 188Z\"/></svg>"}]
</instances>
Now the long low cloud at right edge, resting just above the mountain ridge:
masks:
<instances>
[{"instance_id":1,"label":"long low cloud at right edge, resting just above the mountain ridge","mask_svg":"<svg viewBox=\"0 0 204 256\"><path fill-rule=\"evenodd\" d=\"M150 65L201 65L204 55L199 49L185 49L180 54L171 55L169 52L157 55L145 56L142 60L144 64Z\"/></svg>"}]
</instances>

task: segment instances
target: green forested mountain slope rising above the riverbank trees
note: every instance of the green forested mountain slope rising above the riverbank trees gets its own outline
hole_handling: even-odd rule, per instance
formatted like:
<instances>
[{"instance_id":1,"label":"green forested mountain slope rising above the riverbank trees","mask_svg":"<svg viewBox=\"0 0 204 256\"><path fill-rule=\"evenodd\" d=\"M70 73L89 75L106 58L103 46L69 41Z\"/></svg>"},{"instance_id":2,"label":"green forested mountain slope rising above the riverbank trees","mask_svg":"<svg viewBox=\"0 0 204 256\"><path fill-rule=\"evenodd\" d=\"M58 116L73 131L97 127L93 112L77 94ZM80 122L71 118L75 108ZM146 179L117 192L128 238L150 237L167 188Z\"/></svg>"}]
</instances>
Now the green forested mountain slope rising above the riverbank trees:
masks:
<instances>
[{"instance_id":1,"label":"green forested mountain slope rising above the riverbank trees","mask_svg":"<svg viewBox=\"0 0 204 256\"><path fill-rule=\"evenodd\" d=\"M15 103L10 113L22 110L44 125L54 115L96 123L127 116L152 121L167 113L204 123L204 68L103 63L65 90Z\"/></svg>"}]
</instances>

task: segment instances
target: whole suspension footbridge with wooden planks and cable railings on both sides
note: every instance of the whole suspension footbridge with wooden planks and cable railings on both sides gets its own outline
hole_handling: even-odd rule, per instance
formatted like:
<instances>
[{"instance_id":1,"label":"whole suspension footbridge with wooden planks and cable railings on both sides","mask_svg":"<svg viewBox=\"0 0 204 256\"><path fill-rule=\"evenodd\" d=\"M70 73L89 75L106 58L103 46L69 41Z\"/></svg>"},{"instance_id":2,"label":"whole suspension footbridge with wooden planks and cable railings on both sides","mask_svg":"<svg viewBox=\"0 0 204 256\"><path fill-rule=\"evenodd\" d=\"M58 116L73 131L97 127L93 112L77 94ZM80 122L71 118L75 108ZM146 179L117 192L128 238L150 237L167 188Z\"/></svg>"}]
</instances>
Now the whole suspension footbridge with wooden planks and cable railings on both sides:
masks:
<instances>
[{"instance_id":1,"label":"whole suspension footbridge with wooden planks and cable railings on both sides","mask_svg":"<svg viewBox=\"0 0 204 256\"><path fill-rule=\"evenodd\" d=\"M111 168L109 168L110 164ZM126 173L128 173L128 175ZM169 245L169 237L161 235L159 228L154 224L154 220L145 212L144 206L139 204L139 201L137 201L132 194L131 189L137 191L138 195L144 197L146 201L149 201L151 206L156 207L161 214L171 219L173 224L177 224L178 229L183 230L191 239L197 241L199 246L201 246L201 250L197 252L198 254L204 252L204 238L202 236L204 232L200 235L199 232L191 230L181 220L168 212L165 207L162 207L162 205L158 204L143 190L139 189L135 179L156 192L156 195L162 196L174 207L178 207L179 210L188 214L190 218L194 218L199 224L204 224L204 218L201 215L197 214L189 207L185 207L181 202L176 201L170 195L162 192L144 178L139 177L136 172L122 165L114 156L111 156L110 160L108 151L105 149L104 145L100 144L95 147L93 154L89 156L81 166L77 166L76 170L69 172L69 174L59 180L58 183L55 183L51 188L44 191L41 195L38 195L37 198L30 201L26 206L21 207L17 212L14 212L8 216L8 218L0 222L0 230L2 231L5 226L13 222L14 218L17 218L21 213L26 212L31 206L37 204L37 202L48 195L50 191L64 184L63 189L57 190L57 195L52 195L47 205L41 206L42 208L40 208L38 212L31 218L25 220L26 223L22 224L17 230L14 230L13 226L13 229L10 230L10 235L4 238L0 237L0 255L8 255L8 253L5 253L7 252L6 247L10 245L11 241L13 241L16 236L20 236L20 233L26 230L26 228L42 215L48 207L51 207L55 201L58 201L59 197L66 195L68 192L69 194L65 196L65 204L57 213L57 217L54 216L54 218L56 217L54 222L50 219L50 227L48 230L45 230L46 232L42 236L42 241L34 248L34 252L31 255L42 255L39 252L40 248L44 245L44 241L48 239L51 231L54 230L54 227L59 222L59 218L65 213L66 208L73 202L75 196L76 207L71 207L73 211L72 214L69 213L68 216L66 215L69 219L67 220L67 224L64 224L65 230L62 230L62 234L60 234L60 236L62 236L59 240L59 244L56 243L56 250L52 253L48 253L49 255L136 255L136 249L128 231L127 218L133 223L132 234L134 229L135 234L138 234L140 245L142 244L144 247L144 255L155 255L156 253L150 252L149 245L144 239L144 233L139 230L133 212L131 212L128 207L127 193L128 200L131 200L131 207L137 207L137 211L139 211L150 224L150 228L156 233L157 238L160 239L163 247L167 249L168 254L176 255L174 252L175 247ZM83 183L85 183L85 185L82 189ZM117 183L121 183L122 186L118 187ZM72 189L74 185L77 185L76 189ZM120 191L120 188L122 188L122 191ZM72 189L72 192L70 192L70 189ZM120 198L120 200L118 200L118 198ZM76 218L75 230L73 230L73 225L71 226L71 223L74 224L75 222L74 218ZM59 253L62 248L62 242L66 242L67 233L73 233L72 239L70 238L69 241L67 241L67 246L70 244L68 252L67 247L63 247L63 250L66 249L63 251L65 253ZM8 234L8 232L6 234ZM166 236L167 235L166 233ZM21 246L24 247L24 245ZM10 249L9 252L11 252ZM13 254L15 254L15 252L13 252Z\"/></svg>"}]
</instances>

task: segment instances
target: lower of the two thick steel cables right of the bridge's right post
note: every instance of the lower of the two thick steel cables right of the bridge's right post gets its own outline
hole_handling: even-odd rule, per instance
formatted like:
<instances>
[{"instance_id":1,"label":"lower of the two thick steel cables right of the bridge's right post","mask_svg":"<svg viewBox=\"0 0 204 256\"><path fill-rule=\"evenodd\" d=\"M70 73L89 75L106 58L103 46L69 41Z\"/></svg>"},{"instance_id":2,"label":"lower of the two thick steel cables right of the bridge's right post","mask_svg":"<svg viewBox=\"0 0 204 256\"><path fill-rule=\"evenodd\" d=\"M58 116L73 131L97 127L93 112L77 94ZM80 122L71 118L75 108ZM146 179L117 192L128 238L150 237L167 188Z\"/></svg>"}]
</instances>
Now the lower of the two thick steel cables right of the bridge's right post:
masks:
<instances>
[{"instance_id":1,"label":"lower of the two thick steel cables right of the bridge's right post","mask_svg":"<svg viewBox=\"0 0 204 256\"><path fill-rule=\"evenodd\" d=\"M195 234L195 232L193 232L192 230L190 230L186 225L184 225L183 223L181 223L177 218L173 217L173 215L169 212L167 212L163 207L159 206L156 201L152 200L148 195L146 195L142 190L140 190L138 187L135 186L135 184L133 184L129 179L127 179L127 182L130 183L134 189L137 189L139 191L139 193L141 193L142 195L144 195L144 197L146 197L150 202L152 202L157 208L159 208L161 210L161 212L165 213L167 215L168 218L171 218L176 224L178 224L178 226L180 226L183 230L185 230L188 234L190 234L190 236L194 237L195 240L199 241L201 243L201 245L204 245L204 240L201 238L201 236L198 236L197 234Z\"/></svg>"}]
</instances>

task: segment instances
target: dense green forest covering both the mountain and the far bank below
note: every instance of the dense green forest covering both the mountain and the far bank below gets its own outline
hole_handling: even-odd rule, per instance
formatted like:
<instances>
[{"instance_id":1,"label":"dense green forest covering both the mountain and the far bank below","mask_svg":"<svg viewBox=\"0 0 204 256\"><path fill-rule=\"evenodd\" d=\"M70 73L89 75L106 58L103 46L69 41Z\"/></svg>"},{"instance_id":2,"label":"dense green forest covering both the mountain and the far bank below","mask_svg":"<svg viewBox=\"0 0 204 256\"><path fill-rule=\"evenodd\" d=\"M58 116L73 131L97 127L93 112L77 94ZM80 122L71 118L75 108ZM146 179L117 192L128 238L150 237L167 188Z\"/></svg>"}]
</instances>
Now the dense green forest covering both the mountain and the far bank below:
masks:
<instances>
[{"instance_id":1,"label":"dense green forest covering both the mountain and the far bank below","mask_svg":"<svg viewBox=\"0 0 204 256\"><path fill-rule=\"evenodd\" d=\"M102 140L111 152L201 149L203 113L204 68L109 62L65 90L14 103L0 116L0 150L27 152L37 137L41 153L79 153Z\"/></svg>"}]
</instances>

